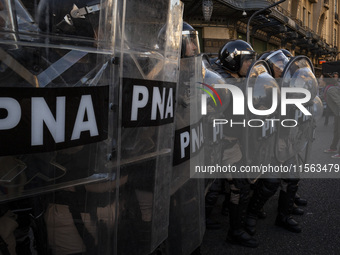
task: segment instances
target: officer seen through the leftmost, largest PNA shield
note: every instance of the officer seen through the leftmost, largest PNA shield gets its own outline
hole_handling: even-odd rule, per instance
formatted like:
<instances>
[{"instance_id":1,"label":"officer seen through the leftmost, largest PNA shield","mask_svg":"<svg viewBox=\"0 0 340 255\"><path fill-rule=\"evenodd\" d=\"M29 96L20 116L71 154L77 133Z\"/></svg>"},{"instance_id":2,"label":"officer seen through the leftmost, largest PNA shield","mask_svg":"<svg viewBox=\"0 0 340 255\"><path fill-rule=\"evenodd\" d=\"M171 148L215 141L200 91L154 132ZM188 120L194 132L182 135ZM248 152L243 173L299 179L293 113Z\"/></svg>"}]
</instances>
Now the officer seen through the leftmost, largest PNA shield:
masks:
<instances>
[{"instance_id":1,"label":"officer seen through the leftmost, largest PNA shield","mask_svg":"<svg viewBox=\"0 0 340 255\"><path fill-rule=\"evenodd\" d=\"M39 28L42 34L51 35L51 43L58 43L57 36L52 36L57 34L59 38L77 37L77 46L96 49L101 8L104 7L100 1L42 0L39 2L37 13ZM41 86L91 86L91 81L95 81L92 79L93 75L90 75L96 64L95 54L52 47L43 53L46 54L46 59L53 63L54 72L47 72L52 68L47 69L44 76L46 78L41 79ZM70 54L73 57L68 58ZM65 70L58 68L55 64L57 60ZM53 74L56 74L56 77ZM43 83L45 80L46 84ZM99 78L99 82L101 81ZM67 169L64 181L82 179L93 174L86 171L93 168L93 163L90 162L91 153L96 153L91 145L77 146L56 153L56 161ZM53 254L110 252L111 248L102 243L105 238L101 235L111 235L114 227L111 219L116 217L116 202L108 199L114 195L114 190L114 182L105 180L99 183L70 185L54 192L44 215L48 244Z\"/></svg>"}]
</instances>

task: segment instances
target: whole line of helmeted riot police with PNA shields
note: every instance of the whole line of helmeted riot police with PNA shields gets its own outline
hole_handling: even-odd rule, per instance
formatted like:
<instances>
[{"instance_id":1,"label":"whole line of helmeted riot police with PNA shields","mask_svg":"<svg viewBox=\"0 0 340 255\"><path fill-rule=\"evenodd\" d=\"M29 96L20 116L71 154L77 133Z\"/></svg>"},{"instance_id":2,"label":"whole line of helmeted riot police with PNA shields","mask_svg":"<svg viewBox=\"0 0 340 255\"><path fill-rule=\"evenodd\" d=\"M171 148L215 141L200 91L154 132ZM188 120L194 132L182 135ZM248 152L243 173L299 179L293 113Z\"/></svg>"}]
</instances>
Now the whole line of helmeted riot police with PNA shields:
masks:
<instances>
[{"instance_id":1,"label":"whole line of helmeted riot police with PNA shields","mask_svg":"<svg viewBox=\"0 0 340 255\"><path fill-rule=\"evenodd\" d=\"M276 224L301 231L298 175L195 170L306 161L319 106L310 60L256 60L241 40L209 58L182 11L179 0L0 1L0 254L199 254L221 186L228 242L258 246L280 186ZM283 114L293 87L309 97Z\"/></svg>"}]
</instances>

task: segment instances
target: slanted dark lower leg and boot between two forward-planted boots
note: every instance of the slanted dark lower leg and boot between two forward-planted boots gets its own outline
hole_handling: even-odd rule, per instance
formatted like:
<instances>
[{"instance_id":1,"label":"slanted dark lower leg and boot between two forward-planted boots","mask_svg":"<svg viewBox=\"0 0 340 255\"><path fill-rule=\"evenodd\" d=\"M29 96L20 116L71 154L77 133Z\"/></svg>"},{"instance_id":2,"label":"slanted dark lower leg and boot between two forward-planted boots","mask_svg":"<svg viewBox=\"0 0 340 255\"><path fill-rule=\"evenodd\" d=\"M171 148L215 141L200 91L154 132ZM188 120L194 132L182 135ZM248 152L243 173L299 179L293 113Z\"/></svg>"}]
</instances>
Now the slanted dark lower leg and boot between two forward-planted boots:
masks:
<instances>
[{"instance_id":1,"label":"slanted dark lower leg and boot between two forward-planted boots","mask_svg":"<svg viewBox=\"0 0 340 255\"><path fill-rule=\"evenodd\" d=\"M255 235L257 219L265 214L263 206L275 194L278 187L279 181L276 179L261 179L255 186L245 220L245 229L250 235Z\"/></svg>"}]
</instances>

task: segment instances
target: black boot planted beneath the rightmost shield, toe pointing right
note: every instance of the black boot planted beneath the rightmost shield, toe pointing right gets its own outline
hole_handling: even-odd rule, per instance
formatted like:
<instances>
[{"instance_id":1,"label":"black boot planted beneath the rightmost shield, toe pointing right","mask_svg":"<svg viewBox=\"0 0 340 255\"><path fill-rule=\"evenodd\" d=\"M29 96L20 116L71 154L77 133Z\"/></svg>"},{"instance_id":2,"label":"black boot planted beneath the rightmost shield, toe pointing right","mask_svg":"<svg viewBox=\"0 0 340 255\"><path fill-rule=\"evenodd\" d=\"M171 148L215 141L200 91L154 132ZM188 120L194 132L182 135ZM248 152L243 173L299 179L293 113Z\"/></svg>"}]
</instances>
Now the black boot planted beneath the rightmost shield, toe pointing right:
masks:
<instances>
[{"instance_id":1,"label":"black boot planted beneath the rightmost shield, toe pointing right","mask_svg":"<svg viewBox=\"0 0 340 255\"><path fill-rule=\"evenodd\" d=\"M288 188L287 192L284 192L282 190L280 191L279 213L276 217L275 224L279 227L287 229L288 231L300 233L301 227L299 223L295 221L291 216L296 190L294 188Z\"/></svg>"}]
</instances>

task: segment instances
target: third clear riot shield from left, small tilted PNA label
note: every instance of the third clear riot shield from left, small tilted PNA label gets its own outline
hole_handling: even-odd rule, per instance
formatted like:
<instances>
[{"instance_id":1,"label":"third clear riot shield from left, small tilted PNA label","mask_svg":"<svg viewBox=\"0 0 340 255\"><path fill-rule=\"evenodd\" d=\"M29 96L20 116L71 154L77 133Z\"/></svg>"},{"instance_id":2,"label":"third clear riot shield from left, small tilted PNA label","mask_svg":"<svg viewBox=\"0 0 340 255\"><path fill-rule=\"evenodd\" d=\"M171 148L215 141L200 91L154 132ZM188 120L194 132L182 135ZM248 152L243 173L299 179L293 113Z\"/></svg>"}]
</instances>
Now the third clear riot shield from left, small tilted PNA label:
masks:
<instances>
[{"instance_id":1,"label":"third clear riot shield from left, small tilted PNA label","mask_svg":"<svg viewBox=\"0 0 340 255\"><path fill-rule=\"evenodd\" d=\"M182 58L171 177L168 254L190 254L205 231L204 179L191 171L204 164L204 120L201 114L202 56Z\"/></svg>"}]
</instances>

